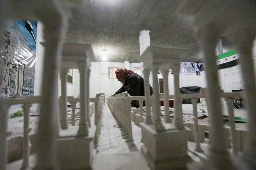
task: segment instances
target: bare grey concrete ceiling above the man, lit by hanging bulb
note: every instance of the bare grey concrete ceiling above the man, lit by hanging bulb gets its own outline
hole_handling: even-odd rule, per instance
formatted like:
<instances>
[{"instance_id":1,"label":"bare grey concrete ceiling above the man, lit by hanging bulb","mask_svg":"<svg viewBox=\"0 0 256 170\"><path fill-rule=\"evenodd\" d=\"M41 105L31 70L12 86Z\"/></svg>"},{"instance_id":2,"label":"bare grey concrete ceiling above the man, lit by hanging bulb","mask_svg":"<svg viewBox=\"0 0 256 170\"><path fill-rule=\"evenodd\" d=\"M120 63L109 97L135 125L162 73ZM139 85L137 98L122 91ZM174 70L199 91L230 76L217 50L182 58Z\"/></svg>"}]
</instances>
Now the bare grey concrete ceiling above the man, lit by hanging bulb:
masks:
<instances>
[{"instance_id":1,"label":"bare grey concrete ceiling above the man, lit by hanging bulb","mask_svg":"<svg viewBox=\"0 0 256 170\"><path fill-rule=\"evenodd\" d=\"M87 0L84 6L72 8L66 41L92 44L95 58L100 62L106 55L106 62L139 63L138 36L141 30L147 29L151 46L187 49L190 54L183 61L203 62L189 21L175 13L182 2Z\"/></svg>"}]
</instances>

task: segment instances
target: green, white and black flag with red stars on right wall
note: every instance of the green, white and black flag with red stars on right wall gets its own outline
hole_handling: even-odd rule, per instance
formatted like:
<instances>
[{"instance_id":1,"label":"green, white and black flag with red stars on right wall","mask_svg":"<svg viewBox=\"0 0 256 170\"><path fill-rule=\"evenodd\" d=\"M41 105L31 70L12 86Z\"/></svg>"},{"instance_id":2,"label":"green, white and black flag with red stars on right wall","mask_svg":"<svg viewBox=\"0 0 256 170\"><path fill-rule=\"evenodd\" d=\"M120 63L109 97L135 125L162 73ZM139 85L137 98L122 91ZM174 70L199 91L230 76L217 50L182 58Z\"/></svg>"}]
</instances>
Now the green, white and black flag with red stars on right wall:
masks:
<instances>
[{"instance_id":1,"label":"green, white and black flag with red stars on right wall","mask_svg":"<svg viewBox=\"0 0 256 170\"><path fill-rule=\"evenodd\" d=\"M239 55L236 50L216 56L216 63L219 69L225 69L238 64Z\"/></svg>"}]
</instances>

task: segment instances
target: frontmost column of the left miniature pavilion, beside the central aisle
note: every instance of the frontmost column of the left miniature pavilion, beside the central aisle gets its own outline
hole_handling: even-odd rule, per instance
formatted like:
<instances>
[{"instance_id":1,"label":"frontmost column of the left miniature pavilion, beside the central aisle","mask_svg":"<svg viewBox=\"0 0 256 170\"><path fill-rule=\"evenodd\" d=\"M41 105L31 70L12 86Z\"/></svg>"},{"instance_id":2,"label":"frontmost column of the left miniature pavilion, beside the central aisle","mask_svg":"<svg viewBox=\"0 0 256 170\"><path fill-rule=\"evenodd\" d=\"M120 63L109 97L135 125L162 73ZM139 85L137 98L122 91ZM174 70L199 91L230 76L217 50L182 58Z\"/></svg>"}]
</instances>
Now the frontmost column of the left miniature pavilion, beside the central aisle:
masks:
<instances>
[{"instance_id":1,"label":"frontmost column of the left miniature pavilion, beside the central aisle","mask_svg":"<svg viewBox=\"0 0 256 170\"><path fill-rule=\"evenodd\" d=\"M86 80L87 80L87 63L77 63L80 73L80 120L79 128L77 131L77 137L88 136L88 124L87 124L87 96L86 96Z\"/></svg>"}]
</instances>

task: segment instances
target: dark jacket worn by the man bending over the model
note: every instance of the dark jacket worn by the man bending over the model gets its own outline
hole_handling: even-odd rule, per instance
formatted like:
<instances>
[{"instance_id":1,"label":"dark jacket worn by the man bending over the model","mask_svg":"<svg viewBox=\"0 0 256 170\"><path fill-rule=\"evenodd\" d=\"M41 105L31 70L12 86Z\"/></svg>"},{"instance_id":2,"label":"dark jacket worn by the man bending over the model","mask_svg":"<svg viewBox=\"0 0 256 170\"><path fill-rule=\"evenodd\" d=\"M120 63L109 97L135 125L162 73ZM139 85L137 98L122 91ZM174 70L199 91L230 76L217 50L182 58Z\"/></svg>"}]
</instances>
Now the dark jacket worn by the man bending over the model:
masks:
<instances>
[{"instance_id":1,"label":"dark jacket worn by the man bending over the model","mask_svg":"<svg viewBox=\"0 0 256 170\"><path fill-rule=\"evenodd\" d=\"M153 89L149 85L150 88L150 95L153 94ZM144 96L144 78L142 78L137 73L132 73L127 78L126 82L123 84L123 86L115 92L115 94L127 92L131 96ZM114 95L115 95L114 94ZM143 105L145 105L145 102L143 101ZM139 107L138 100L132 100L131 106L133 107Z\"/></svg>"}]
</instances>

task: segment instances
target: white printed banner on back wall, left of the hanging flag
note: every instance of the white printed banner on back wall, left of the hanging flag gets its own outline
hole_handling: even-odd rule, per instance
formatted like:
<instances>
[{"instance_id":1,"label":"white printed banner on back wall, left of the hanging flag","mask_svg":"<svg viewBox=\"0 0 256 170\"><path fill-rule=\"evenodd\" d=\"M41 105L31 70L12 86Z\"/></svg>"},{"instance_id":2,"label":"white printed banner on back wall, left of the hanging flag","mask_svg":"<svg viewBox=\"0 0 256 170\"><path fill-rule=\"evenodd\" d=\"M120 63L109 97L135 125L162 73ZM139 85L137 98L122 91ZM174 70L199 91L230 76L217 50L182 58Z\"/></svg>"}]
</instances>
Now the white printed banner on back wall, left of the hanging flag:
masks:
<instances>
[{"instance_id":1,"label":"white printed banner on back wall, left of the hanging flag","mask_svg":"<svg viewBox=\"0 0 256 170\"><path fill-rule=\"evenodd\" d=\"M204 71L204 63L191 63L191 62L180 63L181 74L190 74L190 75L200 76L201 71Z\"/></svg>"}]
</instances>

